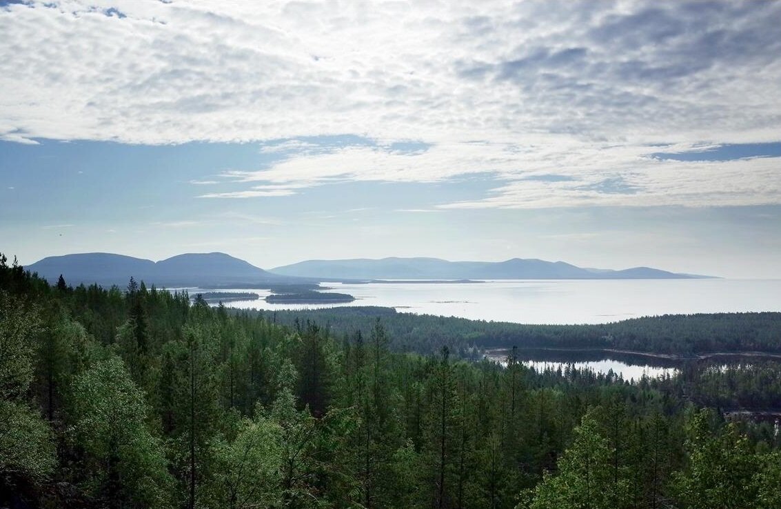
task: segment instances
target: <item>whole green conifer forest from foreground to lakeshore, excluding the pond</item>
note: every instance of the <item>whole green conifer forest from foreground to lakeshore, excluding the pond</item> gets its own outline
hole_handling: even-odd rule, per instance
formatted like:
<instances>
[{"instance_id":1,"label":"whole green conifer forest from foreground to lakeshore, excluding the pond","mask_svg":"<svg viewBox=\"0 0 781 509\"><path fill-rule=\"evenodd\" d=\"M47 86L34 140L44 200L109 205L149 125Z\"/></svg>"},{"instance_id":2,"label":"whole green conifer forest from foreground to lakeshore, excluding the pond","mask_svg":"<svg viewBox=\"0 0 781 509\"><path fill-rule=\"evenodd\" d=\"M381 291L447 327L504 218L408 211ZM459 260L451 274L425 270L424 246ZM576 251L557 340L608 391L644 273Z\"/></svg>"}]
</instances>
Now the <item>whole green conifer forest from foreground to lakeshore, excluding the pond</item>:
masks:
<instances>
[{"instance_id":1,"label":"whole green conifer forest from foreground to lakeshore, excluding the pond","mask_svg":"<svg viewBox=\"0 0 781 509\"><path fill-rule=\"evenodd\" d=\"M773 364L627 382L512 349L775 351L777 314L564 332L358 313L49 285L0 255L0 507L781 507L777 427L722 412L777 402ZM506 367L459 354L488 339Z\"/></svg>"}]
</instances>

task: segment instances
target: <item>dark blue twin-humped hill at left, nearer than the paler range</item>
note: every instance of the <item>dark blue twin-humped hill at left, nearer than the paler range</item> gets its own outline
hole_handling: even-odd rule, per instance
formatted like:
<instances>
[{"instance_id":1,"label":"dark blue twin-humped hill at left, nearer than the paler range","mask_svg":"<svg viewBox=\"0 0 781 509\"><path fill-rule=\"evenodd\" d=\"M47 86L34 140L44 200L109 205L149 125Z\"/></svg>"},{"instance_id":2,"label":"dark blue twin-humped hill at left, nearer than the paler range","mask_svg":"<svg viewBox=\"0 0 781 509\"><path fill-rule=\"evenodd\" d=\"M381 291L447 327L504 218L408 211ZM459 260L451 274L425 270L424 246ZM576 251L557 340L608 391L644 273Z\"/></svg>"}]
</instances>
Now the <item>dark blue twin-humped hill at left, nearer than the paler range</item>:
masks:
<instances>
[{"instance_id":1,"label":"dark blue twin-humped hill at left, nearer than the paler range","mask_svg":"<svg viewBox=\"0 0 781 509\"><path fill-rule=\"evenodd\" d=\"M82 253L49 256L25 267L37 272L49 282L59 274L69 285L127 285L130 277L147 285L184 287L247 287L301 282L279 274L271 274L251 263L225 253L187 253L172 256L157 263L111 253Z\"/></svg>"}]
</instances>

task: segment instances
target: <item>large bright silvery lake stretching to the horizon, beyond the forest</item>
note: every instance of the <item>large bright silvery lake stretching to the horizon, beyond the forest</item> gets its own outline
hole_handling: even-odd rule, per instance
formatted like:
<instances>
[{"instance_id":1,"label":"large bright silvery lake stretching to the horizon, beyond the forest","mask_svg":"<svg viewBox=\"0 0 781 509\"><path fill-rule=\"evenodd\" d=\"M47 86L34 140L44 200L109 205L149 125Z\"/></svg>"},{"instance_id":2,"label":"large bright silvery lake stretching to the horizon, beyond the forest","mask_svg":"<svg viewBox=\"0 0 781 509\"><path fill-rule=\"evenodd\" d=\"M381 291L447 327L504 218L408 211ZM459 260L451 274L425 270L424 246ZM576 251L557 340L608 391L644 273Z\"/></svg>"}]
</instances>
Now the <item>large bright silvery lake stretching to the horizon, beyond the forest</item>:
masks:
<instances>
[{"instance_id":1,"label":"large bright silvery lake stretching to the horizon, beyond the forest","mask_svg":"<svg viewBox=\"0 0 781 509\"><path fill-rule=\"evenodd\" d=\"M323 283L331 292L355 296L352 303L269 304L260 300L226 303L243 309L318 309L386 306L417 314L526 324L598 324L659 314L781 311L781 280L635 279L519 280L479 283ZM194 290L190 290L191 294Z\"/></svg>"}]
</instances>

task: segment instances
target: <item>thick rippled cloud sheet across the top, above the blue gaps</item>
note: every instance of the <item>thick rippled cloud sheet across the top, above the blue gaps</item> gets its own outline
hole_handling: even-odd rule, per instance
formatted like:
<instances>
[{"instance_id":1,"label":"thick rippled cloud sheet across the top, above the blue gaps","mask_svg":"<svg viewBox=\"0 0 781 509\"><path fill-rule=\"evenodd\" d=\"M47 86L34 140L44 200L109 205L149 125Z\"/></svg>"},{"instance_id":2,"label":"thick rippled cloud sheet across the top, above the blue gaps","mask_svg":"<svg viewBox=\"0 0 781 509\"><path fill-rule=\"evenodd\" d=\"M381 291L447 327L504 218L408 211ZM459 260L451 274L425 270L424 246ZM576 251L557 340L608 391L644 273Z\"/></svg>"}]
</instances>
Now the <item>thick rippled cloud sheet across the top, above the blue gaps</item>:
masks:
<instances>
[{"instance_id":1,"label":"thick rippled cloud sheet across the top, above the blue gaps","mask_svg":"<svg viewBox=\"0 0 781 509\"><path fill-rule=\"evenodd\" d=\"M781 113L779 2L111 5L0 11L6 139L738 141Z\"/></svg>"}]
</instances>

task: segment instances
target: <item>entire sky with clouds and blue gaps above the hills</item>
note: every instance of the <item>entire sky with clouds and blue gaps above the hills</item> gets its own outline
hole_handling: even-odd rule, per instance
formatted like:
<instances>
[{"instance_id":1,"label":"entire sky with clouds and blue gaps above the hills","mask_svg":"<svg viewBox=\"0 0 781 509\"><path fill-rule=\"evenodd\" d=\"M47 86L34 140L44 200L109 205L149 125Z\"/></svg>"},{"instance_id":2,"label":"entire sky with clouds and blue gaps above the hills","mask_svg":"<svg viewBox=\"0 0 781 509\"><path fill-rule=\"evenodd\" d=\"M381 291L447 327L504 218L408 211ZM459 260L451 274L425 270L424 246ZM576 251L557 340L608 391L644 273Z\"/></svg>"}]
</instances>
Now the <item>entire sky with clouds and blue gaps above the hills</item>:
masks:
<instances>
[{"instance_id":1,"label":"entire sky with clouds and blue gaps above the hills","mask_svg":"<svg viewBox=\"0 0 781 509\"><path fill-rule=\"evenodd\" d=\"M0 0L0 252L781 278L781 2Z\"/></svg>"}]
</instances>

